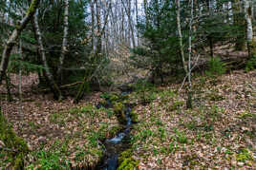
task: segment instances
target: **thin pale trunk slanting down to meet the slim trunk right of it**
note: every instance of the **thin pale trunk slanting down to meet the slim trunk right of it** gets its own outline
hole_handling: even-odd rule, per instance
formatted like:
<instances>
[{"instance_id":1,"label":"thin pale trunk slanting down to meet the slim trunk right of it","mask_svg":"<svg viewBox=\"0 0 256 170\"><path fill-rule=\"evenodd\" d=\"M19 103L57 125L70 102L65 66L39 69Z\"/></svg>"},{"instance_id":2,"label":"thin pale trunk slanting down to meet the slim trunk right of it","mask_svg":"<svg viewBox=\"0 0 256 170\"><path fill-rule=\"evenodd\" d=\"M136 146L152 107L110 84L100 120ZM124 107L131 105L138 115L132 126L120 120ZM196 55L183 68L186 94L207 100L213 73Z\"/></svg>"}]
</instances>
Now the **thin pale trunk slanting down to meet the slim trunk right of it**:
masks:
<instances>
[{"instance_id":1,"label":"thin pale trunk slanting down to meet the slim trunk right of it","mask_svg":"<svg viewBox=\"0 0 256 170\"><path fill-rule=\"evenodd\" d=\"M181 2L180 0L176 0L176 12L177 12L177 28L178 28L178 34L179 34L179 44L180 44L180 52L181 52L181 61L183 65L183 69L185 73L187 74L187 67L185 65L185 56L184 56L184 50L183 50L183 44L182 44L182 34L181 34Z\"/></svg>"}]
</instances>

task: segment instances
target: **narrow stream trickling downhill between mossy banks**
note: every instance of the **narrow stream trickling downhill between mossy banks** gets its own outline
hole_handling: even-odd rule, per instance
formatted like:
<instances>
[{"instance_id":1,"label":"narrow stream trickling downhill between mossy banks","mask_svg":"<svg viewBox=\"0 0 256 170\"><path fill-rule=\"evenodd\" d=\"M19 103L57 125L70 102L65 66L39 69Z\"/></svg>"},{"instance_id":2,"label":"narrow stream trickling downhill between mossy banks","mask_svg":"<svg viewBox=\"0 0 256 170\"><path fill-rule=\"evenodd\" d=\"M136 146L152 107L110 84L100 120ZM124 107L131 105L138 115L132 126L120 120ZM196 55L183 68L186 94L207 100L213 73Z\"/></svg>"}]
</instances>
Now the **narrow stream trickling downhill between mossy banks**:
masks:
<instances>
[{"instance_id":1,"label":"narrow stream trickling downhill between mossy banks","mask_svg":"<svg viewBox=\"0 0 256 170\"><path fill-rule=\"evenodd\" d=\"M126 95L127 92L121 93L121 95ZM107 105L97 104L97 107L109 107L111 102L107 100ZM97 167L102 170L117 170L118 167L118 155L124 150L128 149L130 146L129 142L129 134L132 128L132 119L130 117L130 113L132 111L131 106L125 105L125 117L126 123L124 128L119 131L116 136L112 139L107 139L103 142L105 146L105 156L101 164Z\"/></svg>"}]
</instances>

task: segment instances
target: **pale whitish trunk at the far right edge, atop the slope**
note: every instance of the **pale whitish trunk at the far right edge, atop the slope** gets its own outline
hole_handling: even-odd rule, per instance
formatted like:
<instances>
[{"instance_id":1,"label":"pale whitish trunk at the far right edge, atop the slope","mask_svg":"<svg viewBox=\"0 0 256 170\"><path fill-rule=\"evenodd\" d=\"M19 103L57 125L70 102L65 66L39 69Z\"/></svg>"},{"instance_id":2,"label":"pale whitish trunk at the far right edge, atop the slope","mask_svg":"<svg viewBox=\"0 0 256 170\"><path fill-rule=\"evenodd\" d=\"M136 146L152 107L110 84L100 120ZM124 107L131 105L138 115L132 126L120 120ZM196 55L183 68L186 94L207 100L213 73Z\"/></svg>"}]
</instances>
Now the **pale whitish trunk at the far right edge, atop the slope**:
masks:
<instances>
[{"instance_id":1,"label":"pale whitish trunk at the far right edge, atop the slope","mask_svg":"<svg viewBox=\"0 0 256 170\"><path fill-rule=\"evenodd\" d=\"M251 7L249 0L245 0L245 20L247 23L247 47L248 47L248 57L253 57L253 29L251 22Z\"/></svg>"}]
</instances>

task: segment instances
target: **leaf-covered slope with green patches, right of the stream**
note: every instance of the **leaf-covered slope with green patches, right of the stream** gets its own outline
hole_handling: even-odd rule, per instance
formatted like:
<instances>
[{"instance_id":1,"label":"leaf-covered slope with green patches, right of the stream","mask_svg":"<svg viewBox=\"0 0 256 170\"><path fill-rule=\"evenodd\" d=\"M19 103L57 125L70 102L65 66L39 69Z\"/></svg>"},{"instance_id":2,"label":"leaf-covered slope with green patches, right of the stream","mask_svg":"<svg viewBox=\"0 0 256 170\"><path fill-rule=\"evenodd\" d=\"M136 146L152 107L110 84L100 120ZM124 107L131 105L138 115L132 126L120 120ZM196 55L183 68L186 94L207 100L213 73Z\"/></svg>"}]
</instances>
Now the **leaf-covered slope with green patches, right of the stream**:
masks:
<instances>
[{"instance_id":1,"label":"leaf-covered slope with green patches, right of the stream","mask_svg":"<svg viewBox=\"0 0 256 170\"><path fill-rule=\"evenodd\" d=\"M138 105L133 158L139 169L256 167L256 72L234 71L193 82L194 108L180 85L158 87ZM148 97L150 98L150 97Z\"/></svg>"}]
</instances>

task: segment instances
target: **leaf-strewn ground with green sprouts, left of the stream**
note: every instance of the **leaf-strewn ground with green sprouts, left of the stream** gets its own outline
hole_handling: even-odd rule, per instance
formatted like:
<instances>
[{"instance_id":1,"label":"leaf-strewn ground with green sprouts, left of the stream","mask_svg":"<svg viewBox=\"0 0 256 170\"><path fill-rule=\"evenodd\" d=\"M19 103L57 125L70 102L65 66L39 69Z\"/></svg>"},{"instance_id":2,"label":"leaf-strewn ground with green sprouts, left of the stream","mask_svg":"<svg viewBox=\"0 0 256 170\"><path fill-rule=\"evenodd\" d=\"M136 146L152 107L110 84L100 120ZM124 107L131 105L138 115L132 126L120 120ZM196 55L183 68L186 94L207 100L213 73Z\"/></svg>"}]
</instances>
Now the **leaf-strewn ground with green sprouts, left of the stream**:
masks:
<instances>
[{"instance_id":1,"label":"leaf-strewn ground with green sprouts, left of the stream","mask_svg":"<svg viewBox=\"0 0 256 170\"><path fill-rule=\"evenodd\" d=\"M27 78L27 82L32 83L33 76L31 80ZM12 82L15 85L15 80ZM17 99L11 103L2 99L2 106L13 130L28 142L32 150L26 159L28 167L86 167L101 159L102 140L114 136L119 125L113 110L96 108L95 105L102 100L99 93L80 104L73 104L72 99L58 103L51 96L26 91L30 89L26 83L23 89L21 112ZM10 165L7 154L1 152L0 158L0 167Z\"/></svg>"}]
</instances>

